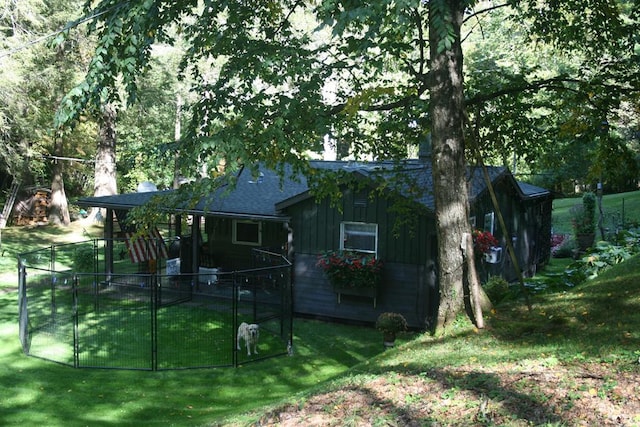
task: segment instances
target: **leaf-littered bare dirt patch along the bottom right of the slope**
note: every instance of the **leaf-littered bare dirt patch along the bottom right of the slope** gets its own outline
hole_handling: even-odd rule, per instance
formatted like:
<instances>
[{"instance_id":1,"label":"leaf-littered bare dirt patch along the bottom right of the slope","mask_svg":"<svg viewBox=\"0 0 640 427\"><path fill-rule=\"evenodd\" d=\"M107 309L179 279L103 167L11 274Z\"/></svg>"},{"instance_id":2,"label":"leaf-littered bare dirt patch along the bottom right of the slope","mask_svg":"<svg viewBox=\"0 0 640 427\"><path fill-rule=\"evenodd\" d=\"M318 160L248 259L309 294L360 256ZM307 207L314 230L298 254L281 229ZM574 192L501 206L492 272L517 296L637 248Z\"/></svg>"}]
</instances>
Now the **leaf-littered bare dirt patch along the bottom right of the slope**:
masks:
<instances>
[{"instance_id":1,"label":"leaf-littered bare dirt patch along the bottom right of the slope","mask_svg":"<svg viewBox=\"0 0 640 427\"><path fill-rule=\"evenodd\" d=\"M385 373L273 410L262 426L640 426L640 366L502 365Z\"/></svg>"}]
</instances>

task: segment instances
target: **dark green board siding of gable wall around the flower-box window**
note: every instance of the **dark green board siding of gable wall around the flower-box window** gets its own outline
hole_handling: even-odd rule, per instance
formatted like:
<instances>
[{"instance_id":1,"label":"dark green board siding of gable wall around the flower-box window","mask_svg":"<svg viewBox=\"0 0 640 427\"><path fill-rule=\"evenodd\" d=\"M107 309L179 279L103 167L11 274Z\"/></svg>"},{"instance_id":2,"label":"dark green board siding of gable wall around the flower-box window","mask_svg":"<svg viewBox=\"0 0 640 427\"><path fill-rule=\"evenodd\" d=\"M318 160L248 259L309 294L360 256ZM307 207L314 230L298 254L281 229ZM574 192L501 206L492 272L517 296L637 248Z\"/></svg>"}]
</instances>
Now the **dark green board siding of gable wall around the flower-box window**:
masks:
<instances>
[{"instance_id":1,"label":"dark green board siding of gable wall around the flower-box window","mask_svg":"<svg viewBox=\"0 0 640 427\"><path fill-rule=\"evenodd\" d=\"M328 200L303 200L287 209L294 235L294 310L305 316L328 317L373 323L385 311L402 313L412 327L424 328L437 307L435 270L435 223L420 216L413 232L407 226L393 234L395 215L386 198L374 197L363 204L362 194L346 191L341 209ZM356 202L358 199L358 203ZM383 279L376 306L373 299L338 295L324 272L316 266L318 255L340 248L343 221L378 224L378 257L383 260Z\"/></svg>"}]
</instances>

